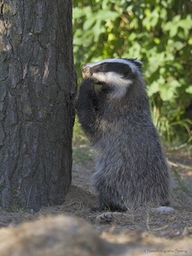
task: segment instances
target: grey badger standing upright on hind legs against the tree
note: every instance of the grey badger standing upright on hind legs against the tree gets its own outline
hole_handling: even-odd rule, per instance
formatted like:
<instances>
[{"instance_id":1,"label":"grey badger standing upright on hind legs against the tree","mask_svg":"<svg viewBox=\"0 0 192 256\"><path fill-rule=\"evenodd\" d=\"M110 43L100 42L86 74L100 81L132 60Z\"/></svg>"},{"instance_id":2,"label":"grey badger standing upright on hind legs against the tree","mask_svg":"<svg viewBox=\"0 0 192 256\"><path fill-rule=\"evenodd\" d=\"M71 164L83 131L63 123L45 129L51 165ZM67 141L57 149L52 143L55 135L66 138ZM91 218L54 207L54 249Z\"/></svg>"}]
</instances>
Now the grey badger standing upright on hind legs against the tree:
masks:
<instances>
[{"instance_id":1,"label":"grey badger standing upright on hind legs against the tree","mask_svg":"<svg viewBox=\"0 0 192 256\"><path fill-rule=\"evenodd\" d=\"M125 211L170 201L170 172L152 123L141 67L142 62L133 59L82 67L77 112L96 148L93 183L100 210Z\"/></svg>"}]
</instances>

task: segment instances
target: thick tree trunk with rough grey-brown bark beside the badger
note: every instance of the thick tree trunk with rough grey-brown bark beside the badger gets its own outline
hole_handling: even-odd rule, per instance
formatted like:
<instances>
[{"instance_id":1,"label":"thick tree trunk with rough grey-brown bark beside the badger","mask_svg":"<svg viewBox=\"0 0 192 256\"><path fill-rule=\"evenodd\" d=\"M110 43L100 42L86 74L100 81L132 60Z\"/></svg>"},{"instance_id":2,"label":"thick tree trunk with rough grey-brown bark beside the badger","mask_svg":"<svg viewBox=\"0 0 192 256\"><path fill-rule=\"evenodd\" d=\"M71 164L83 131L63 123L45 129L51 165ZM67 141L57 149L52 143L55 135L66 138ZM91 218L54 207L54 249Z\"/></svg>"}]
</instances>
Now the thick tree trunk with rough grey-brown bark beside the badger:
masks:
<instances>
[{"instance_id":1,"label":"thick tree trunk with rough grey-brown bark beside the badger","mask_svg":"<svg viewBox=\"0 0 192 256\"><path fill-rule=\"evenodd\" d=\"M0 6L0 200L38 211L61 204L71 183L72 1Z\"/></svg>"}]
</instances>

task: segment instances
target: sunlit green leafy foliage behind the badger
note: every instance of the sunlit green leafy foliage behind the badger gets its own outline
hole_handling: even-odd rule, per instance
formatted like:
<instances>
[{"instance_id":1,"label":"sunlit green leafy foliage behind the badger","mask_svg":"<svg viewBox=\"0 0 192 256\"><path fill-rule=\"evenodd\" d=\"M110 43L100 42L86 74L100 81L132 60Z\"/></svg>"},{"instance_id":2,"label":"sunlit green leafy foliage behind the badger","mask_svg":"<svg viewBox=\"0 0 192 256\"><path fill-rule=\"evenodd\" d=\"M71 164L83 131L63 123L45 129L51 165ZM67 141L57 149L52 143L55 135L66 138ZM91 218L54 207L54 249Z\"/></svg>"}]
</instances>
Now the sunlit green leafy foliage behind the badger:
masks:
<instances>
[{"instance_id":1,"label":"sunlit green leafy foliage behind the badger","mask_svg":"<svg viewBox=\"0 0 192 256\"><path fill-rule=\"evenodd\" d=\"M160 134L192 136L192 0L74 0L73 32L79 78L85 62L138 58Z\"/></svg>"}]
</instances>

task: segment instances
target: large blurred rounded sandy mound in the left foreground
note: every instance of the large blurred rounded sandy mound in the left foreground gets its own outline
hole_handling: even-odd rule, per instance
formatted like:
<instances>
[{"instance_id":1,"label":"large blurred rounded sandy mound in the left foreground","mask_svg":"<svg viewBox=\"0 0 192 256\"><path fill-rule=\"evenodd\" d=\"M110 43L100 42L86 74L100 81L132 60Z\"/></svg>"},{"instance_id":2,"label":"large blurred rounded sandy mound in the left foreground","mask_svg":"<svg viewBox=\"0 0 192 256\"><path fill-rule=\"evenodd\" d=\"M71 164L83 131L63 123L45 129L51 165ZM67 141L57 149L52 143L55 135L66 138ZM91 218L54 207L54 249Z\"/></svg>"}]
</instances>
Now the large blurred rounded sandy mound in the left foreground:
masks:
<instances>
[{"instance_id":1,"label":"large blurred rounded sandy mound in the left foreground","mask_svg":"<svg viewBox=\"0 0 192 256\"><path fill-rule=\"evenodd\" d=\"M1 256L104 256L106 253L104 241L79 218L44 217L0 230Z\"/></svg>"}]
</instances>

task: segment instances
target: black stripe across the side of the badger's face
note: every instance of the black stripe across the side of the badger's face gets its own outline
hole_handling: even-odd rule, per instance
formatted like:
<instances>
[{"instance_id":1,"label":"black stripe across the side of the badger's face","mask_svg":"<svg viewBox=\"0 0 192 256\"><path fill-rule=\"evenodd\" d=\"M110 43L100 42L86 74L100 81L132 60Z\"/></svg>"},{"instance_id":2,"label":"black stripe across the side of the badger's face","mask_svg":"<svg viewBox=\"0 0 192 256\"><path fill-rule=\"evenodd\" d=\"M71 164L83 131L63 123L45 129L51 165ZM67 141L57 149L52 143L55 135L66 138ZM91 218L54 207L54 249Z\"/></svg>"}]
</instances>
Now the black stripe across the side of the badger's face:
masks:
<instances>
[{"instance_id":1,"label":"black stripe across the side of the badger's face","mask_svg":"<svg viewBox=\"0 0 192 256\"><path fill-rule=\"evenodd\" d=\"M126 76L128 73L131 73L131 67L129 67L129 65L119 62L103 62L95 67L91 67L90 70L92 73L114 72L122 76Z\"/></svg>"}]
</instances>

